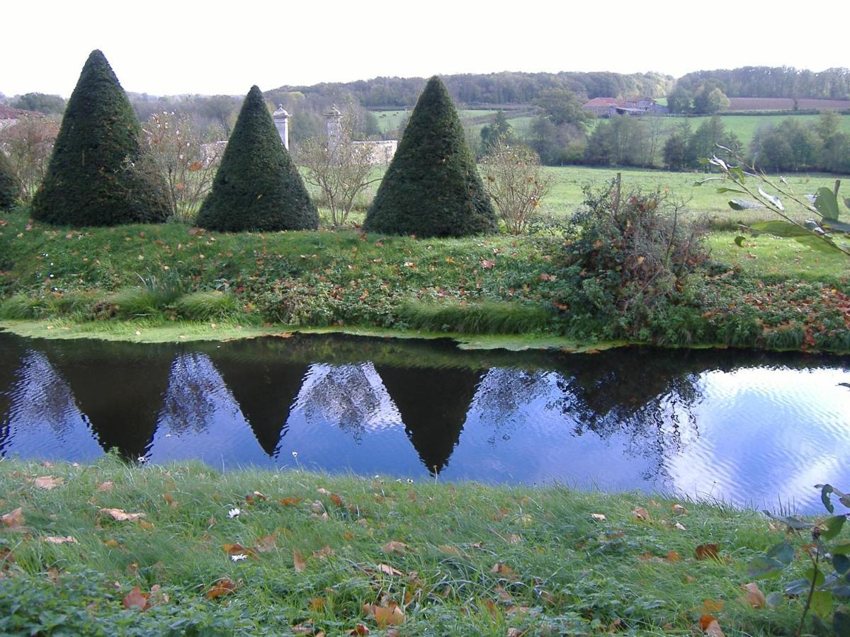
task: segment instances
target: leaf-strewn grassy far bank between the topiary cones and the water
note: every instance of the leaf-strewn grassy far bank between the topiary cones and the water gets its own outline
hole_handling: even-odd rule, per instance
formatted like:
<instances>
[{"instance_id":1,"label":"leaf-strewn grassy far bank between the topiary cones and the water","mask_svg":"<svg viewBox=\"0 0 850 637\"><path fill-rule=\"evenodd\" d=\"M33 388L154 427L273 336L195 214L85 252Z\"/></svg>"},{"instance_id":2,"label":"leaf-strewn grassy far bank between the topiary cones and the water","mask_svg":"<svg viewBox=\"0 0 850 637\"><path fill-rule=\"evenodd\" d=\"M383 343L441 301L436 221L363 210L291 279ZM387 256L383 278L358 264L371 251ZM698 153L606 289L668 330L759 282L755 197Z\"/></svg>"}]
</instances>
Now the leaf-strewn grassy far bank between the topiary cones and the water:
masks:
<instances>
[{"instance_id":1,"label":"leaf-strewn grassy far bank between the topiary cones and the water","mask_svg":"<svg viewBox=\"0 0 850 637\"><path fill-rule=\"evenodd\" d=\"M219 234L177 223L52 228L31 222L26 209L3 222L0 319L42 320L19 332L144 340L156 329L179 340L320 328L461 335L479 347L634 341L850 351L846 259L765 236L739 247L733 233L710 234L711 260L678 301L628 324L575 311L557 234L417 240L357 230Z\"/></svg>"}]
</instances>

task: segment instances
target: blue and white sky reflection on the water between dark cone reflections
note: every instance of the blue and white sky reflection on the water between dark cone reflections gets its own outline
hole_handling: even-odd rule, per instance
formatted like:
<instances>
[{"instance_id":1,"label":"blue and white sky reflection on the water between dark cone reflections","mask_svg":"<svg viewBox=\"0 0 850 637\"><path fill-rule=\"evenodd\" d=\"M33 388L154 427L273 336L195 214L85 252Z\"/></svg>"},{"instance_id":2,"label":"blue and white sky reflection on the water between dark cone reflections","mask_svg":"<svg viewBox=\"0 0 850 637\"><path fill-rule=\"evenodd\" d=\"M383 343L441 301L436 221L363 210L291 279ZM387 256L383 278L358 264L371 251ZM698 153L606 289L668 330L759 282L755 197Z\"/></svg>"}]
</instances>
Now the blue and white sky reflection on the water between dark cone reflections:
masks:
<instances>
[{"instance_id":1,"label":"blue and white sky reflection on the water between dark cone reflections","mask_svg":"<svg viewBox=\"0 0 850 637\"><path fill-rule=\"evenodd\" d=\"M379 366L379 373L369 362L315 363L302 382L292 365L271 366L268 384L250 394L244 392L254 382L250 365L231 377L233 369L222 368L223 376L217 364L200 352L176 354L149 448L152 461L197 458L230 468L297 464L426 478L420 455L422 445L434 442L428 439L433 409L461 418L466 413L459 438L431 445L428 452L445 448L447 454L455 444L440 480L675 489L757 507L775 507L781 497L811 512L820 510L815 483L850 489L850 389L839 385L850 381L846 369L700 372L692 366L687 374L656 378L656 390L615 385L613 372L588 375L582 386L567 372L493 368L481 377L469 404L471 389L457 392L456 403L449 398L440 403L435 395L431 404L426 388L420 409L428 413L407 414L411 422L404 423L387 386L421 390L432 371L445 372L420 370L409 376L415 382L399 385L406 376L393 368ZM60 376L48 355L28 351L8 369L16 371L12 386L0 387L0 407L8 403L8 414L0 414L4 455L84 461L103 453L97 432L75 404L74 379ZM395 373L396 384L385 384L381 374ZM251 408L241 408L224 378L242 383ZM120 406L115 397L107 402ZM404 407L405 398L400 402ZM246 420L251 411L263 420L261 430ZM101 420L95 426L122 426L120 413Z\"/></svg>"}]
</instances>

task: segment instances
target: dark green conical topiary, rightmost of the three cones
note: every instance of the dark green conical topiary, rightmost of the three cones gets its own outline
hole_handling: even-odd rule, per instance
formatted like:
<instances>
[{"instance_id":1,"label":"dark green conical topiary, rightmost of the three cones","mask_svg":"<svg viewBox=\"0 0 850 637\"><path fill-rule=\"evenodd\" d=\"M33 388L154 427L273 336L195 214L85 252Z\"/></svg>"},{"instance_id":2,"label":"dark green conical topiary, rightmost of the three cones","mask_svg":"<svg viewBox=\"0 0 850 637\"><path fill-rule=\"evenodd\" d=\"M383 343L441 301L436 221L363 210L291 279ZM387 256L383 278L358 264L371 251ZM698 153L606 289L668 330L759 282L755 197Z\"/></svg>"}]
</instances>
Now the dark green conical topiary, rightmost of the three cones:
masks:
<instances>
[{"instance_id":1,"label":"dark green conical topiary, rightmost of the three cones","mask_svg":"<svg viewBox=\"0 0 850 637\"><path fill-rule=\"evenodd\" d=\"M422 237L496 230L496 213L460 117L437 76L428 80L416 102L363 228Z\"/></svg>"}]
</instances>

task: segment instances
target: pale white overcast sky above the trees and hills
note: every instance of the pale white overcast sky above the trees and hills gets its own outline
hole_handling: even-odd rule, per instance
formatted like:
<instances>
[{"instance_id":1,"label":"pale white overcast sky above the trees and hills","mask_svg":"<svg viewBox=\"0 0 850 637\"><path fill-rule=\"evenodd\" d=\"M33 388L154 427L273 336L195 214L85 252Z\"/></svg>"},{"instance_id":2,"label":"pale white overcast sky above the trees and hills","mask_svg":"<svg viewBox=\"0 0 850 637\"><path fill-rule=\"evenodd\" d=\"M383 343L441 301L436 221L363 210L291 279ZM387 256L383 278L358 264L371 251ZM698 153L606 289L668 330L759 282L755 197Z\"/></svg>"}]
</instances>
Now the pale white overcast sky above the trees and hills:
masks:
<instances>
[{"instance_id":1,"label":"pale white overcast sky above the trees and hills","mask_svg":"<svg viewBox=\"0 0 850 637\"><path fill-rule=\"evenodd\" d=\"M850 3L775 0L42 0L0 12L0 93L67 98L104 52L127 91L244 94L376 76L502 70L659 71L850 66ZM790 6L790 5L789 5Z\"/></svg>"}]
</instances>

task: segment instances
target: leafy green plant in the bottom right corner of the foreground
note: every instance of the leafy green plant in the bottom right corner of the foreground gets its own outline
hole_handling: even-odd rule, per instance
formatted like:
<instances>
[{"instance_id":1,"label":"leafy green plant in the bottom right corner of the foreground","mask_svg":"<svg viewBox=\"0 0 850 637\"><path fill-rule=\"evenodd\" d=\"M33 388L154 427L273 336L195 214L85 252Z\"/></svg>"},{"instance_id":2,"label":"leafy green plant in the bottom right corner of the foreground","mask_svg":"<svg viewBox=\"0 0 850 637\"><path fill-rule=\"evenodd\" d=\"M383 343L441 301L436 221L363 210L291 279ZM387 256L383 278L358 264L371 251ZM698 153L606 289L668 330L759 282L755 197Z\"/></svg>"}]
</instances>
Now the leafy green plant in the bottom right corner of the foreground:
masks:
<instances>
[{"instance_id":1,"label":"leafy green plant in the bottom right corner of the foreground","mask_svg":"<svg viewBox=\"0 0 850 637\"><path fill-rule=\"evenodd\" d=\"M796 535L801 541L803 555L808 557L810 566L803 573L804 577L795 579L785 584L785 595L796 597L805 595L805 605L802 609L800 624L796 634L802 634L803 624L808 612L814 613L814 622L820 629L829 632L825 619L833 611L836 600L847 600L850 598L850 542L836 542L831 546L825 543L835 539L844 527L844 522L850 513L835 515L835 505L832 504L831 496L836 495L842 505L850 509L850 495L842 493L830 484L818 484L820 499L831 517L825 521L812 524L793 516L776 516L768 511L765 515L772 520L779 521L785 525L789 536ZM808 531L804 535L802 532ZM773 546L764 555L758 555L749 565L748 573L752 578L778 578L785 567L794 561L796 551L786 538L783 542ZM833 572L825 573L825 563L831 562ZM774 599L771 599L774 598ZM781 595L773 594L768 597L768 604L778 605ZM836 610L832 612L832 626L834 634L850 633L850 613Z\"/></svg>"}]
</instances>

